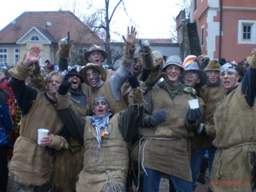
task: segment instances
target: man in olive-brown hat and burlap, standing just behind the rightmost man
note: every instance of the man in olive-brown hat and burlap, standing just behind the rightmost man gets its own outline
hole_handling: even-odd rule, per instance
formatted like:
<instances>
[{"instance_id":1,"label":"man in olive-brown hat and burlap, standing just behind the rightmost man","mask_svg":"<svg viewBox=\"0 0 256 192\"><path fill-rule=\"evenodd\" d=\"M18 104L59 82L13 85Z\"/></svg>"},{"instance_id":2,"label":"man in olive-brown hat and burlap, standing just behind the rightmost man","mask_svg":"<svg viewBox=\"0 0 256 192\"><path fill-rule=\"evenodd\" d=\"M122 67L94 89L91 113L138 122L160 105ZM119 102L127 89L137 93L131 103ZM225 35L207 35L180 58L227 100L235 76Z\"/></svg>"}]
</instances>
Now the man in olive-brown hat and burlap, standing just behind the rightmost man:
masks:
<instances>
[{"instance_id":1,"label":"man in olive-brown hat and burlap, standing just behind the rightmost man","mask_svg":"<svg viewBox=\"0 0 256 192\"><path fill-rule=\"evenodd\" d=\"M216 104L225 95L225 89L220 82L220 63L217 60L212 60L204 70L207 74L207 83L204 86L195 87L195 89L198 97L205 102L203 123L214 125L213 115ZM214 137L198 134L197 132L194 132L193 136L190 137L193 188L196 188L196 180L198 179L205 184L205 172L208 164L209 173L211 173L212 162L217 149L212 145L213 140ZM209 159L204 157L206 150L208 150ZM200 167L202 168L202 173L199 173Z\"/></svg>"}]
</instances>

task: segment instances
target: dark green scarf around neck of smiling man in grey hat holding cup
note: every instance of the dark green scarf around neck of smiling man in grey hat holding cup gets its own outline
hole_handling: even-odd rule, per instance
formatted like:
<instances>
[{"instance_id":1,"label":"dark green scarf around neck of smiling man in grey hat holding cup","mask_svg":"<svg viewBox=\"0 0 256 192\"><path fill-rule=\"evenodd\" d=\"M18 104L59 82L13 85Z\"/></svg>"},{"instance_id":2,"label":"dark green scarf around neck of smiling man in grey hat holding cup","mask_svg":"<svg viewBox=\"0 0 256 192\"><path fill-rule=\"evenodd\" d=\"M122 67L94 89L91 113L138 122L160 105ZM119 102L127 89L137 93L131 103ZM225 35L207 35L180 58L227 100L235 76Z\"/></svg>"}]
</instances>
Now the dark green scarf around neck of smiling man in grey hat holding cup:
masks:
<instances>
[{"instance_id":1,"label":"dark green scarf around neck of smiling man in grey hat holding cup","mask_svg":"<svg viewBox=\"0 0 256 192\"><path fill-rule=\"evenodd\" d=\"M164 88L164 90L167 90L167 92L170 94L172 100L174 99L175 95L182 95L183 89L184 89L184 84L178 83L176 85L172 85L166 81L166 78L164 78L164 81L161 81L160 83L157 84L161 88Z\"/></svg>"}]
</instances>

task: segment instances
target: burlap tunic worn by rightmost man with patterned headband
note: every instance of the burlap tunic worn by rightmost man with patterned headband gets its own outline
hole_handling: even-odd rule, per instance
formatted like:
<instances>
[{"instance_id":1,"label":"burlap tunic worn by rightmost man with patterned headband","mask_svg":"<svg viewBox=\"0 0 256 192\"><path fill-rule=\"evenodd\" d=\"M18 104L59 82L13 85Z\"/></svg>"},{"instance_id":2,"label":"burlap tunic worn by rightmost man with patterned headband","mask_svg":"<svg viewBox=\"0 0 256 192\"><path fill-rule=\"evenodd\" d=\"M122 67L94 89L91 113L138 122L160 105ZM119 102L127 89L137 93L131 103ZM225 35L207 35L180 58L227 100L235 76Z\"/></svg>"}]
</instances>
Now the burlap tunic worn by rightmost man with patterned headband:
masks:
<instances>
[{"instance_id":1,"label":"burlap tunic worn by rightmost man with patterned headband","mask_svg":"<svg viewBox=\"0 0 256 192\"><path fill-rule=\"evenodd\" d=\"M241 85L221 100L214 113L216 138L213 145L218 150L212 164L211 181L220 184L211 184L212 191L252 191L255 164L251 157L256 152L256 108L255 105L253 108L248 106Z\"/></svg>"}]
</instances>

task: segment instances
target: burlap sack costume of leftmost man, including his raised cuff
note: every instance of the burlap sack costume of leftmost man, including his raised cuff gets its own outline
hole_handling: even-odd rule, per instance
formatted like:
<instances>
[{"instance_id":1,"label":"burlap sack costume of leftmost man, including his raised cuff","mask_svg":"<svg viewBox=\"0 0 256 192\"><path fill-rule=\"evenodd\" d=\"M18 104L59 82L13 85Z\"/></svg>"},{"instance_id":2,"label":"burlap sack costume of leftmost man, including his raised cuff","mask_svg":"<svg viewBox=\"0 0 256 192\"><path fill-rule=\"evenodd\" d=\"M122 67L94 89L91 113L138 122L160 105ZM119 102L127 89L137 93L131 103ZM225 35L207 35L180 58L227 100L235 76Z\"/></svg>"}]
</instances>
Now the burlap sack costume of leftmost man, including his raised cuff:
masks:
<instances>
[{"instance_id":1,"label":"burlap sack costume of leftmost man, including his raised cuff","mask_svg":"<svg viewBox=\"0 0 256 192\"><path fill-rule=\"evenodd\" d=\"M9 70L11 76L24 80L31 72L31 67L26 67L22 61L17 63L16 68ZM36 122L36 123L35 123ZM67 141L56 134L63 128L56 106L52 105L38 92L33 106L20 122L20 136L13 147L13 157L9 164L10 175L15 175L20 184L37 185L45 184L51 178L53 156L49 147L41 147L37 144L38 128L49 129L52 136L51 146L56 150L67 148Z\"/></svg>"}]
</instances>

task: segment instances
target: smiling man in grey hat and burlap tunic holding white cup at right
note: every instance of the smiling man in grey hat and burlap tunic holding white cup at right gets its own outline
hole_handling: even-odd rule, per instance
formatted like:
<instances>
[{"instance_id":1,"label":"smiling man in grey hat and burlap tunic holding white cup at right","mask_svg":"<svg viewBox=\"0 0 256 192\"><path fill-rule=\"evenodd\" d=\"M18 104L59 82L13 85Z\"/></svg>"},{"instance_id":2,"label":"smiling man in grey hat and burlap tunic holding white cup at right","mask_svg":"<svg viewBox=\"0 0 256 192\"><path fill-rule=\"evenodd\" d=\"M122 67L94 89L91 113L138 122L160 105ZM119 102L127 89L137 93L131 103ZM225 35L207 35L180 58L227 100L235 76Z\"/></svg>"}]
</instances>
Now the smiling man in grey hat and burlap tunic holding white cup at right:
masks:
<instances>
[{"instance_id":1,"label":"smiling man in grey hat and burlap tunic holding white cup at right","mask_svg":"<svg viewBox=\"0 0 256 192\"><path fill-rule=\"evenodd\" d=\"M177 191L193 191L189 163L188 132L198 126L202 109L189 109L179 78L184 74L179 56L170 56L161 69L161 81L145 94L147 105L140 134L140 163L143 168L144 191L158 191L163 173Z\"/></svg>"}]
</instances>

